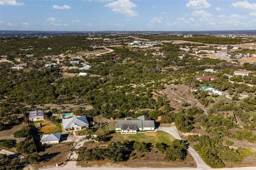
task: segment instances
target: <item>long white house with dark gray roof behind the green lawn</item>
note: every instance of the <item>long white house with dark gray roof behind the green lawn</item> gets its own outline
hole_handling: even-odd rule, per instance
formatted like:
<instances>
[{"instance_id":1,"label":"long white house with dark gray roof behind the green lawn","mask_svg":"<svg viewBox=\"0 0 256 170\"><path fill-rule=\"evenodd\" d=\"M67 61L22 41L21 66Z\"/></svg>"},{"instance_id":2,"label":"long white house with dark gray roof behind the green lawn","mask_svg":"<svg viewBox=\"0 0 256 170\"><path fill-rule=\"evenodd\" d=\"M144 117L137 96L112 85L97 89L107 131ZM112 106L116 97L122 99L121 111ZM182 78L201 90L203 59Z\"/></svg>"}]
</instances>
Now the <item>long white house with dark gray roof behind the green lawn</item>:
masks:
<instances>
[{"instance_id":1,"label":"long white house with dark gray roof behind the green lawn","mask_svg":"<svg viewBox=\"0 0 256 170\"><path fill-rule=\"evenodd\" d=\"M142 115L137 117L137 119L116 121L116 131L121 131L121 134L136 134L138 130L155 130L154 119Z\"/></svg>"}]
</instances>

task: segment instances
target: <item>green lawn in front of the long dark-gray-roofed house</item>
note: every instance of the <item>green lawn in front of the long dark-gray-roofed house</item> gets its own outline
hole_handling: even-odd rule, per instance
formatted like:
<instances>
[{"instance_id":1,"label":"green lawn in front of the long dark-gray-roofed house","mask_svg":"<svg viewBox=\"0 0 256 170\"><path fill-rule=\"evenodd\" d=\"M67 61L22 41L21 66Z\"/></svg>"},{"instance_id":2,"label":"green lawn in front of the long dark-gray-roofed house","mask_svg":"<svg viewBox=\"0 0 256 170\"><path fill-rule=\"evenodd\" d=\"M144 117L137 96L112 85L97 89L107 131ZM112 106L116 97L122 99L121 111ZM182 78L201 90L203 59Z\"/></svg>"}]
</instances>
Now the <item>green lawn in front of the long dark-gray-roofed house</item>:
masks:
<instances>
[{"instance_id":1,"label":"green lawn in front of the long dark-gray-roofed house","mask_svg":"<svg viewBox=\"0 0 256 170\"><path fill-rule=\"evenodd\" d=\"M124 140L135 140L140 142L151 142L153 145L156 143L166 143L170 145L172 141L175 139L172 135L163 132L147 132L147 133L137 133L137 134L121 134L121 132L115 132L114 134L110 134L111 141L113 142L123 142Z\"/></svg>"}]
</instances>

